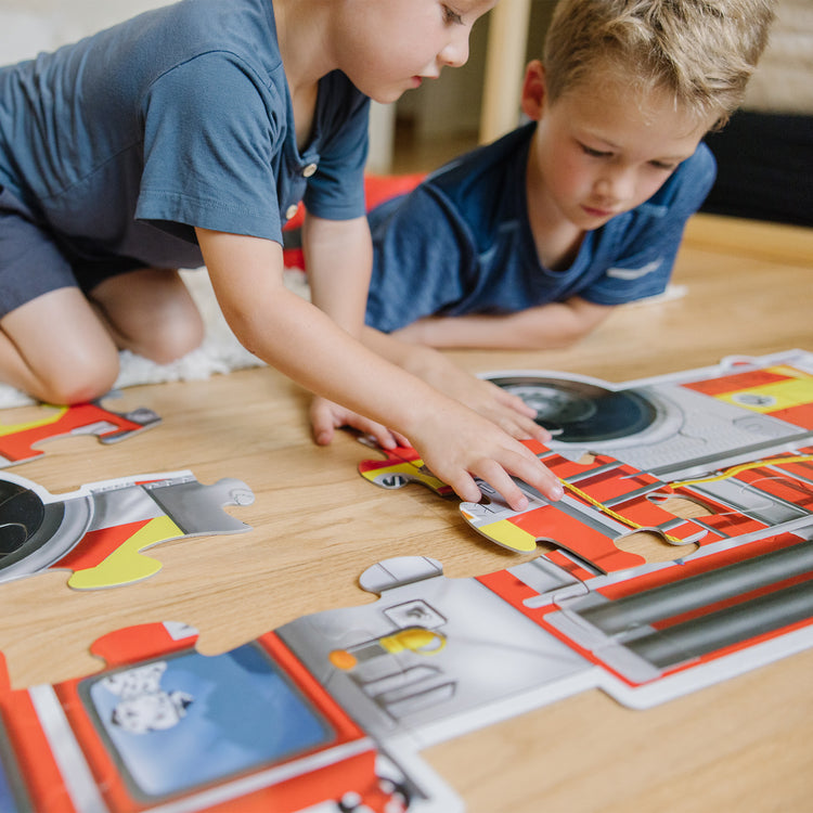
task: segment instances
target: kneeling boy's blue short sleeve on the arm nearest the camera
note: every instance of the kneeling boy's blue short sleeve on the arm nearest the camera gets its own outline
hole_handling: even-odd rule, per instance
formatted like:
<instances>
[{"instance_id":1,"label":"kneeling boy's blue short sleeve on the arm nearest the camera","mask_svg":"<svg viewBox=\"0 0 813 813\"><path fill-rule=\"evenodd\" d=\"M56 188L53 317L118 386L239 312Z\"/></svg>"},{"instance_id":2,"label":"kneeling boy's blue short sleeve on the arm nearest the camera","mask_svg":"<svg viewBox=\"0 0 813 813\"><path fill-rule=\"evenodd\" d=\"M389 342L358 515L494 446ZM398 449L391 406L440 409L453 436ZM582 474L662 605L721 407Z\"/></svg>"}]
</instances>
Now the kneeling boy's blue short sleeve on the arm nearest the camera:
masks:
<instances>
[{"instance_id":1,"label":"kneeling boy's blue short sleeve on the arm nearest the camera","mask_svg":"<svg viewBox=\"0 0 813 813\"><path fill-rule=\"evenodd\" d=\"M144 102L136 217L188 240L202 227L282 242L282 105L228 52L195 56L159 77Z\"/></svg>"}]
</instances>

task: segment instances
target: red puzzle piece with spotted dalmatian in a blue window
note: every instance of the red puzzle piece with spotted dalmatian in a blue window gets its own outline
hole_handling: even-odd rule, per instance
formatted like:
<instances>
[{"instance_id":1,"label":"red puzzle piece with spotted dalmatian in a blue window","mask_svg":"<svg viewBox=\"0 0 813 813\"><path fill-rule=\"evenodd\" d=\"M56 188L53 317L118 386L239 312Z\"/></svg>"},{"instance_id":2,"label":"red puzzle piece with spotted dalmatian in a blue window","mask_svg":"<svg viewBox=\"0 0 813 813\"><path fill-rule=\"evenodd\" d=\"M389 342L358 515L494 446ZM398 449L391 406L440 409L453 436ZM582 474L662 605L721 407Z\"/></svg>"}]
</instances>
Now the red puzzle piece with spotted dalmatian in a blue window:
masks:
<instances>
[{"instance_id":1,"label":"red puzzle piece with spotted dalmatian in a blue window","mask_svg":"<svg viewBox=\"0 0 813 813\"><path fill-rule=\"evenodd\" d=\"M219 656L177 623L112 633L89 678L0 694L0 808L455 813L414 753L376 743L273 632ZM414 764L413 764L414 763Z\"/></svg>"}]
</instances>

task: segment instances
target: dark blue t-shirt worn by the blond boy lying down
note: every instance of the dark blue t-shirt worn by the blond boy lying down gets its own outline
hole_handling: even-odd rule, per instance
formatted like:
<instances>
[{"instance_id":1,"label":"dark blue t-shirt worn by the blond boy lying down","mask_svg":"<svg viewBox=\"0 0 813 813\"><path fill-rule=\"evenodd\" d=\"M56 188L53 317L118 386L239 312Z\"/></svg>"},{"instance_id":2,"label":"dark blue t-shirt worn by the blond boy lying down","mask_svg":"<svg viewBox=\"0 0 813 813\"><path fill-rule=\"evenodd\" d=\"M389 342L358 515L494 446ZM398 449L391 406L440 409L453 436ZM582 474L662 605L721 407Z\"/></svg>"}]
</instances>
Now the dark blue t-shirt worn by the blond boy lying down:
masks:
<instances>
[{"instance_id":1,"label":"dark blue t-shirt worn by the blond boy lying down","mask_svg":"<svg viewBox=\"0 0 813 813\"><path fill-rule=\"evenodd\" d=\"M367 324L389 332L422 317L512 313L571 296L620 305L666 288L685 222L714 181L708 147L648 201L588 232L570 267L552 271L539 260L527 214L534 128L475 150L369 215Z\"/></svg>"}]
</instances>

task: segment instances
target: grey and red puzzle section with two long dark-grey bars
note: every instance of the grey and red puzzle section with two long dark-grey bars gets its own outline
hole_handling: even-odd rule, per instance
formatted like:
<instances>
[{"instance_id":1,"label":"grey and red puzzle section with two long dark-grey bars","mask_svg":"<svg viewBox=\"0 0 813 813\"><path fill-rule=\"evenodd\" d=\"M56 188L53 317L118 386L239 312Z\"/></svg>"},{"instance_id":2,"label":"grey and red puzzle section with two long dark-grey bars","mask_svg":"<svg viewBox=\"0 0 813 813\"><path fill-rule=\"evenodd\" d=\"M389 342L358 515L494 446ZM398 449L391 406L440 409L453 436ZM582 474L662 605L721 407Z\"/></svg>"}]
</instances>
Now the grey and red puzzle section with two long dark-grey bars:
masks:
<instances>
[{"instance_id":1,"label":"grey and red puzzle section with two long dark-grey bars","mask_svg":"<svg viewBox=\"0 0 813 813\"><path fill-rule=\"evenodd\" d=\"M418 747L589 687L647 708L813 644L813 543L790 533L583 581L545 556L453 580L406 557L361 583L376 604L278 634L376 738Z\"/></svg>"}]
</instances>

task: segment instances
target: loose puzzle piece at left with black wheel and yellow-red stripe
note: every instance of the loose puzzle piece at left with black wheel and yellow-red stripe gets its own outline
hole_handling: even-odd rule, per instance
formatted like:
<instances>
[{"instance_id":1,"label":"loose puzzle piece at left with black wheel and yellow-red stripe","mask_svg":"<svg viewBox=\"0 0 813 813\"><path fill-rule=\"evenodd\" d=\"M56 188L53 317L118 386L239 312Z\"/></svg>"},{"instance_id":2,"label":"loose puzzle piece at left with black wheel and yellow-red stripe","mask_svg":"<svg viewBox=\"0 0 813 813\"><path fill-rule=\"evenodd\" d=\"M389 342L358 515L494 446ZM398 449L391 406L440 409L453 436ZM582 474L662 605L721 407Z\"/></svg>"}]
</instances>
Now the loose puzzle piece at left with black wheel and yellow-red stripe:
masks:
<instances>
[{"instance_id":1,"label":"loose puzzle piece at left with black wheel and yellow-red stripe","mask_svg":"<svg viewBox=\"0 0 813 813\"><path fill-rule=\"evenodd\" d=\"M162 567L143 555L145 549L248 530L222 506L253 501L240 480L203 486L190 472L105 480L57 495L2 473L0 582L54 569L73 570L68 585L76 590L139 581Z\"/></svg>"}]
</instances>

